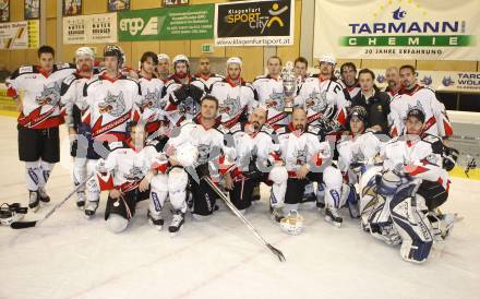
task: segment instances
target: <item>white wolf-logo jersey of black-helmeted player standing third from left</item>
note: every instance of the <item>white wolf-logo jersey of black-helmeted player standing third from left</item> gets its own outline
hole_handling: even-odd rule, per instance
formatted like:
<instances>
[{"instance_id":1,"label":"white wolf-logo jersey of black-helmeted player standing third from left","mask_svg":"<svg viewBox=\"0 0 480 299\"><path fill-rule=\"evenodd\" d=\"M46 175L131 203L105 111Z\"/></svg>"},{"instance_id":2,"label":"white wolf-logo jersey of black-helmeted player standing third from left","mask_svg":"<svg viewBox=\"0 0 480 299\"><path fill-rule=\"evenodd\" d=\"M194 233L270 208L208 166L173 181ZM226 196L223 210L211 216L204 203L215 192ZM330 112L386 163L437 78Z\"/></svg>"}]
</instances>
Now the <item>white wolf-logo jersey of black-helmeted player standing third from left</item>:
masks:
<instances>
[{"instance_id":1,"label":"white wolf-logo jersey of black-helmeted player standing third from left","mask_svg":"<svg viewBox=\"0 0 480 299\"><path fill-rule=\"evenodd\" d=\"M127 122L142 99L139 83L121 74L111 79L101 73L85 85L83 95L86 109L82 122L89 125L92 137L106 141L115 136L123 141Z\"/></svg>"}]
</instances>

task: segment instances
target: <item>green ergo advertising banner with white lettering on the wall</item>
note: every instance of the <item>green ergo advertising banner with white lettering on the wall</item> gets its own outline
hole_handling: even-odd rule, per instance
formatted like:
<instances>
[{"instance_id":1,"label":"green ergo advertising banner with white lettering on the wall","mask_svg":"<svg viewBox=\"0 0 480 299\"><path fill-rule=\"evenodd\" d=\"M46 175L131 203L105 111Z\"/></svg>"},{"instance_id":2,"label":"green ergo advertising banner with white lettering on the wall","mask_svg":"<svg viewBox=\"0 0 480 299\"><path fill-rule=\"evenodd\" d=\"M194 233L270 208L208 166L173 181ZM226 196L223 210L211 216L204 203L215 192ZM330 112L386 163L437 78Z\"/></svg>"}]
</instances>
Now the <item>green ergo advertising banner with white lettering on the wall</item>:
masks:
<instances>
[{"instance_id":1,"label":"green ergo advertising banner with white lettering on the wall","mask_svg":"<svg viewBox=\"0 0 480 299\"><path fill-rule=\"evenodd\" d=\"M119 41L204 39L214 37L214 4L122 11Z\"/></svg>"}]
</instances>

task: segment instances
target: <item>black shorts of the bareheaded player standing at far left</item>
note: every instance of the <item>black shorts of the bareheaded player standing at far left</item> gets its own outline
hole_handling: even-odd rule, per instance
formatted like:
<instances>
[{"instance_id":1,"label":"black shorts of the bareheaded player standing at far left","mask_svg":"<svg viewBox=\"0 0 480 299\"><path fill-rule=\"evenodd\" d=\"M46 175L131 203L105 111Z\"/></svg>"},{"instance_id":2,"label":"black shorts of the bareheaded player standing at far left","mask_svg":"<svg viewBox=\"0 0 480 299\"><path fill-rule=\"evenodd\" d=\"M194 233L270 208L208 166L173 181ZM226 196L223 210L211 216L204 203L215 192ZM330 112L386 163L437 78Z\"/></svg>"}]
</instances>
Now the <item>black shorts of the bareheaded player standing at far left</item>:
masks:
<instances>
[{"instance_id":1,"label":"black shorts of the bareheaded player standing at far left","mask_svg":"<svg viewBox=\"0 0 480 299\"><path fill-rule=\"evenodd\" d=\"M49 129L28 129L16 125L19 130L19 158L23 162L60 160L60 137L58 127Z\"/></svg>"}]
</instances>

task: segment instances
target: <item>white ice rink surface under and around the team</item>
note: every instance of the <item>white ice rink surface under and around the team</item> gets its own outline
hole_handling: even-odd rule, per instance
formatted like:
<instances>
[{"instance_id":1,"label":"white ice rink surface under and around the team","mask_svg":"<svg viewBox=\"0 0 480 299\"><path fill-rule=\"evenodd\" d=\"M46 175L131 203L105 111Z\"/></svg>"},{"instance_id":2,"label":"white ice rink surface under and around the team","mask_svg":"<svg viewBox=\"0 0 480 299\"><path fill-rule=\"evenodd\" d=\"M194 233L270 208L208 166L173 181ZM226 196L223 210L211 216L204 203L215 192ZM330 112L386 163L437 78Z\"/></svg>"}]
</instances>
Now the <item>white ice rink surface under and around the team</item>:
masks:
<instances>
[{"instance_id":1,"label":"white ice rink surface under and around the team","mask_svg":"<svg viewBox=\"0 0 480 299\"><path fill-rule=\"evenodd\" d=\"M62 164L47 186L49 207L72 190L65 128L61 131ZM0 203L26 205L14 118L0 117ZM463 219L422 265L404 262L398 248L361 231L347 211L339 229L323 214L303 211L303 234L288 236L267 215L266 188L248 218L284 252L286 263L225 206L204 223L188 216L171 238L148 226L147 203L141 202L130 228L113 235L103 219L105 200L87 220L72 198L40 227L0 227L0 298L480 298L479 194L479 181L453 179L442 210Z\"/></svg>"}]
</instances>

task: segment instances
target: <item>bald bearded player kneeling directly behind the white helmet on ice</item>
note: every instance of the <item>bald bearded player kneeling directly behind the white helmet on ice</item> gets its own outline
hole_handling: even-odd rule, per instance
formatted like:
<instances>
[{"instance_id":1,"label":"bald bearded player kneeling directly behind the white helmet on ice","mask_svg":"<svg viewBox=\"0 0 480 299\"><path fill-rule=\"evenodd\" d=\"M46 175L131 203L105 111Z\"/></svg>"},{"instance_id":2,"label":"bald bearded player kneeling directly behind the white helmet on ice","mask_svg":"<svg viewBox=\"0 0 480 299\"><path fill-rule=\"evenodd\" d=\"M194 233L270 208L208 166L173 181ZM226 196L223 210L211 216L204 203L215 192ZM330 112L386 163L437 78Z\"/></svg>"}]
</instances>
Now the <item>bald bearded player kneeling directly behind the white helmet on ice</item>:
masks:
<instances>
[{"instance_id":1,"label":"bald bearded player kneeling directly behind the white helmet on ice","mask_svg":"<svg viewBox=\"0 0 480 299\"><path fill-rule=\"evenodd\" d=\"M312 181L321 183L322 175L327 180L325 177L326 171L331 168L326 167L325 174L322 174L325 159L331 157L331 147L327 142L320 142L319 133L321 130L319 128L307 124L305 110L296 108L291 119L290 124L277 129L276 133L280 145L280 157L285 162L288 171L285 195L286 208L298 210L298 204L302 202L305 186ZM341 176L339 183L341 187ZM334 223L340 224L341 217L338 214L339 194L337 195L336 198L326 196L327 215L331 216ZM280 211L274 211L274 213Z\"/></svg>"}]
</instances>

